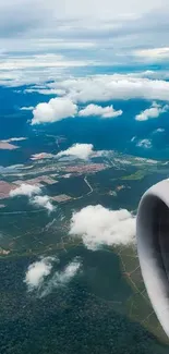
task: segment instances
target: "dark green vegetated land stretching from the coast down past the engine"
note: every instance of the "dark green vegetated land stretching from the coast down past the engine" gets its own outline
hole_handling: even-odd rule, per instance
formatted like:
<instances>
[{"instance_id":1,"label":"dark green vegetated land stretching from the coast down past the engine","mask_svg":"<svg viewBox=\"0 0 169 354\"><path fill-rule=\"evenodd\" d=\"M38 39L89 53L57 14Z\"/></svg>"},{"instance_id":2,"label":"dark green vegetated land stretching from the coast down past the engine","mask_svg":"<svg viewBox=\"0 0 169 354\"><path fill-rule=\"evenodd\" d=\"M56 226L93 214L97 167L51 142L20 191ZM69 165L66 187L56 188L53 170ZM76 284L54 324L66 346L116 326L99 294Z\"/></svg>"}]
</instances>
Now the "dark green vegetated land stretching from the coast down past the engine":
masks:
<instances>
[{"instance_id":1,"label":"dark green vegetated land stretching from the coast down past the engine","mask_svg":"<svg viewBox=\"0 0 169 354\"><path fill-rule=\"evenodd\" d=\"M155 171L157 167L148 166L148 161L118 154L114 157L119 158L114 161L112 156L108 169L89 174L89 179L87 174L88 184L84 175L63 179L61 163L44 162L46 173L51 168L59 173L57 185L46 185L46 193L73 196L69 204L58 204L55 213L34 213L24 198L8 199L1 210L0 353L168 353L166 337L145 292L135 249L105 247L90 252L81 239L69 237L74 210L96 204L133 210L147 188L144 176L154 171L149 184L161 179L160 171ZM32 176L44 171L36 162ZM27 179L31 171L23 172ZM10 182L15 179L8 178ZM137 182L130 183L134 180ZM118 193L120 190L123 193ZM37 291L27 292L24 282L28 266L40 256L57 257L53 272L64 269L77 256L81 271L67 285L56 286L40 297Z\"/></svg>"}]
</instances>

